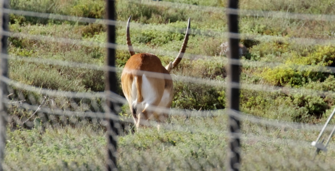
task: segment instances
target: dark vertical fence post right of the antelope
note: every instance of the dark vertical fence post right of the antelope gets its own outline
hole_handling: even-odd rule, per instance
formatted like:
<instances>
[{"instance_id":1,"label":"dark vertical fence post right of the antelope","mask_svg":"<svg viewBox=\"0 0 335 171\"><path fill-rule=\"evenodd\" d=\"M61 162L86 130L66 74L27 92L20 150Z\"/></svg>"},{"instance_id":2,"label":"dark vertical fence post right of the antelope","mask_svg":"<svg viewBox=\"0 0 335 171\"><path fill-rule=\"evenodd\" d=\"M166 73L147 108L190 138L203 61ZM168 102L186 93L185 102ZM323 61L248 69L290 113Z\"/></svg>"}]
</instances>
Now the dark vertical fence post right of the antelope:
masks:
<instances>
[{"instance_id":1,"label":"dark vertical fence post right of the antelope","mask_svg":"<svg viewBox=\"0 0 335 171\"><path fill-rule=\"evenodd\" d=\"M228 0L228 9L238 9L238 0ZM230 33L239 32L239 22L237 14L230 14L227 10L228 30ZM239 59L239 38L231 38L229 36L229 53L228 53L228 124L229 124L229 142L228 142L228 165L227 171L240 170L240 120L233 116L233 113L240 111L240 65L238 62L232 62L234 59Z\"/></svg>"}]
</instances>

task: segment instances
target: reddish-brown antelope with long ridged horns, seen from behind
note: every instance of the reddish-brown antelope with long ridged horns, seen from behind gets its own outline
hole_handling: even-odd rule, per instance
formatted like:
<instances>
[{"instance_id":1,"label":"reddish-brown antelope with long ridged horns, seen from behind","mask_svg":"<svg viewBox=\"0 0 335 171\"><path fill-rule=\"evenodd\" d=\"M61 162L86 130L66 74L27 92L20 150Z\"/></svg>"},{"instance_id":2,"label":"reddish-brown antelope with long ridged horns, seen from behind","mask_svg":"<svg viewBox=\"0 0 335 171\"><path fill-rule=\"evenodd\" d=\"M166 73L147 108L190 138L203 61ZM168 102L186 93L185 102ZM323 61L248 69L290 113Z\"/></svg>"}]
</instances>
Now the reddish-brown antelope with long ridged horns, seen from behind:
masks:
<instances>
[{"instance_id":1,"label":"reddish-brown antelope with long ridged horns, seen from behind","mask_svg":"<svg viewBox=\"0 0 335 171\"><path fill-rule=\"evenodd\" d=\"M178 56L165 67L154 54L135 54L130 40L130 19L131 16L127 22L126 32L131 57L122 71L122 91L129 103L136 128L154 120L158 122L159 128L159 123L166 122L172 104L174 93L170 72L179 64L185 53L190 34L190 18Z\"/></svg>"}]
</instances>

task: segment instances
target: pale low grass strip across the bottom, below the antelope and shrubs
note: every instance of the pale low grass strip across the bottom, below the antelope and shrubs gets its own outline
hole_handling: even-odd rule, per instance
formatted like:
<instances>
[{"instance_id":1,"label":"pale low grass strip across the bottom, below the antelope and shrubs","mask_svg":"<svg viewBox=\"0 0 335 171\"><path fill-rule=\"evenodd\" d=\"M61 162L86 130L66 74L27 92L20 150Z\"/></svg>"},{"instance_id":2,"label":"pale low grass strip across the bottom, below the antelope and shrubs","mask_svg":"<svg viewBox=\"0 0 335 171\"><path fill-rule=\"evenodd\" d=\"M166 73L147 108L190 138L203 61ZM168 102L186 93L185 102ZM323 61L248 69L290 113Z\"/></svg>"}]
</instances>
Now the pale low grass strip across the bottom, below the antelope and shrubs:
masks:
<instances>
[{"instance_id":1,"label":"pale low grass strip across the bottom, below the antelope and shrubs","mask_svg":"<svg viewBox=\"0 0 335 171\"><path fill-rule=\"evenodd\" d=\"M172 125L141 129L118 138L119 170L224 170L227 118L175 116ZM196 115L196 112L191 112ZM318 129L242 125L242 170L332 170L333 144L315 160ZM7 131L5 170L103 170L105 132L94 124L72 128Z\"/></svg>"}]
</instances>

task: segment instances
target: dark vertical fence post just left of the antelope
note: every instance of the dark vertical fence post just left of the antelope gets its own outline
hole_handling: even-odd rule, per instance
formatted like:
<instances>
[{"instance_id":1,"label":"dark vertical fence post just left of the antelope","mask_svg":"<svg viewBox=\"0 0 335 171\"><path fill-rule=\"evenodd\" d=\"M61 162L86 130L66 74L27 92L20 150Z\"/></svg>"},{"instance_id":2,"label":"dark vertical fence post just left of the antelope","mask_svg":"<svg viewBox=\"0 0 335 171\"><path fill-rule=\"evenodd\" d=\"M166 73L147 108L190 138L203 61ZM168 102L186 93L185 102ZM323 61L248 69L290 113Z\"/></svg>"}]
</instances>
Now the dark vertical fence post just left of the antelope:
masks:
<instances>
[{"instance_id":1,"label":"dark vertical fence post just left of the antelope","mask_svg":"<svg viewBox=\"0 0 335 171\"><path fill-rule=\"evenodd\" d=\"M107 19L108 20L116 20L116 11L115 11L115 1L114 0L106 0L106 12L107 12ZM107 25L107 41L108 43L115 43L116 35L115 35L115 25ZM107 65L108 66L115 66L115 49L114 48L107 48ZM117 79L116 73L113 71L106 72L106 81L105 81L105 90L107 95L109 92L117 93ZM108 100L107 98L107 106L108 110L106 111L107 115L116 115L115 111L115 104ZM108 124L106 126L107 129L107 150L108 156L106 160L106 169L108 171L117 171L117 163L116 163L116 155L117 155L117 134L118 129L116 125L118 125L117 121L113 119L109 119L107 117Z\"/></svg>"}]
</instances>

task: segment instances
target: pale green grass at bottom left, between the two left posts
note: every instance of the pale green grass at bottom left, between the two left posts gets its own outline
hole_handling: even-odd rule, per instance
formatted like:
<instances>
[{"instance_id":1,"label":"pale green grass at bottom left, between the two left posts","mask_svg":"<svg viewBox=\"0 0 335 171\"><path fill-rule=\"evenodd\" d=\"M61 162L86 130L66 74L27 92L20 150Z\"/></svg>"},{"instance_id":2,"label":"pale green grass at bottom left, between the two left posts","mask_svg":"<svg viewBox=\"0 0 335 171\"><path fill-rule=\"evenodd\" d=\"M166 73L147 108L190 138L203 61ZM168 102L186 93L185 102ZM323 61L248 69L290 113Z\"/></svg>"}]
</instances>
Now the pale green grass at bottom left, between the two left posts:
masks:
<instances>
[{"instance_id":1,"label":"pale green grass at bottom left, between the two left posts","mask_svg":"<svg viewBox=\"0 0 335 171\"><path fill-rule=\"evenodd\" d=\"M104 170L104 131L73 129L7 131L4 170ZM92 148L94 147L94 148Z\"/></svg>"}]
</instances>

